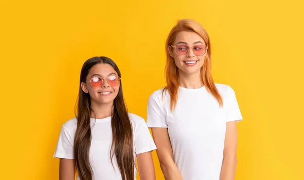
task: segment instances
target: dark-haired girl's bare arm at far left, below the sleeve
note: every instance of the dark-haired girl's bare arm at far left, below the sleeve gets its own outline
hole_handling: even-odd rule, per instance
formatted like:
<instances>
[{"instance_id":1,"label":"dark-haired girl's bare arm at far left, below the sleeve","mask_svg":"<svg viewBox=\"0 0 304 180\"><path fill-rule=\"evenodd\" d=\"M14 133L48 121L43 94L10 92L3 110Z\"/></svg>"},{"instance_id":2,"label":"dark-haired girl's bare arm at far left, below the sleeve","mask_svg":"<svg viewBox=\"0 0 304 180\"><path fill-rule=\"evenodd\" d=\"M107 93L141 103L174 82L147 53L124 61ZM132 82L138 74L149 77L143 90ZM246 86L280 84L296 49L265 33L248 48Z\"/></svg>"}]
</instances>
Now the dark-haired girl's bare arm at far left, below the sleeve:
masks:
<instances>
[{"instance_id":1,"label":"dark-haired girl's bare arm at far left, below the sleeve","mask_svg":"<svg viewBox=\"0 0 304 180\"><path fill-rule=\"evenodd\" d=\"M59 161L59 180L74 180L74 160L73 159L62 159Z\"/></svg>"}]
</instances>

